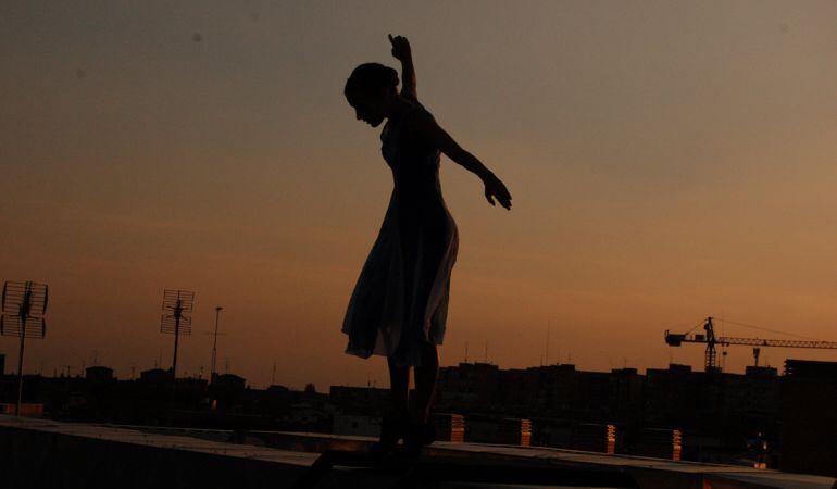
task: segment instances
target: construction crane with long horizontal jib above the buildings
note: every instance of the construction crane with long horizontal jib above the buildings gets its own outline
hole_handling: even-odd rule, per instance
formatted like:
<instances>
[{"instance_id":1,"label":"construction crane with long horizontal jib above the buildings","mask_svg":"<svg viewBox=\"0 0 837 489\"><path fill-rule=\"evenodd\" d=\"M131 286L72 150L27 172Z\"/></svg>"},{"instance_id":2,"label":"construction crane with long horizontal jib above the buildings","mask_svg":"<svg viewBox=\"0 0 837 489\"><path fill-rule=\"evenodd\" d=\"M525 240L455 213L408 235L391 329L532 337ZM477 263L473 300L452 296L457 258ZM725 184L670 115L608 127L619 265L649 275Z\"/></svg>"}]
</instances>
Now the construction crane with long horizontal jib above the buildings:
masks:
<instances>
[{"instance_id":1,"label":"construction crane with long horizontal jib above the buildings","mask_svg":"<svg viewBox=\"0 0 837 489\"><path fill-rule=\"evenodd\" d=\"M735 323L734 323L735 324ZM748 325L742 325L748 326ZM692 329L696 329L697 326ZM761 339L761 338L736 338L730 336L715 336L715 330L712 326L712 317L707 317L703 323L703 330L705 334L691 333L691 330L677 334L669 333L665 330L665 342L671 347L679 347L682 343L705 343L707 351L704 353L703 367L705 372L721 372L721 367L717 365L717 358L715 352L715 344L722 347L728 347L730 344L742 344L753 347L753 356L755 358L755 365L759 365L759 353L761 347L779 347L779 348L820 348L820 349L835 349L837 350L837 341L813 341L813 340L777 340L777 339Z\"/></svg>"}]
</instances>

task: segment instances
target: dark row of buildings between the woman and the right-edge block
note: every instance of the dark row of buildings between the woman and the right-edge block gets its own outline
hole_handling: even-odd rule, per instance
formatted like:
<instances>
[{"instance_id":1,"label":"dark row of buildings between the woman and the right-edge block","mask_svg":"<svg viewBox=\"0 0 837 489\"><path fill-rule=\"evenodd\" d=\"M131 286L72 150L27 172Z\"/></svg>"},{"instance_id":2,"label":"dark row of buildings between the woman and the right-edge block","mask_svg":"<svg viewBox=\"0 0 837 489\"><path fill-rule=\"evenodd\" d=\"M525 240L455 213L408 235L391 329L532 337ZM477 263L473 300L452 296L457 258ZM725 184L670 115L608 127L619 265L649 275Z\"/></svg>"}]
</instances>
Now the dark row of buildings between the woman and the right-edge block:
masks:
<instances>
[{"instance_id":1,"label":"dark row of buildings between the woman and the right-edge block","mask_svg":"<svg viewBox=\"0 0 837 489\"><path fill-rule=\"evenodd\" d=\"M739 375L672 364L640 375L572 364L500 369L462 363L441 368L437 396L442 412L529 418L536 444L604 447L615 431L622 453L660 452L652 446L672 452L682 443L684 459L732 462L748 452L748 439L779 438L779 377L770 367ZM585 441L590 437L596 441Z\"/></svg>"}]
</instances>

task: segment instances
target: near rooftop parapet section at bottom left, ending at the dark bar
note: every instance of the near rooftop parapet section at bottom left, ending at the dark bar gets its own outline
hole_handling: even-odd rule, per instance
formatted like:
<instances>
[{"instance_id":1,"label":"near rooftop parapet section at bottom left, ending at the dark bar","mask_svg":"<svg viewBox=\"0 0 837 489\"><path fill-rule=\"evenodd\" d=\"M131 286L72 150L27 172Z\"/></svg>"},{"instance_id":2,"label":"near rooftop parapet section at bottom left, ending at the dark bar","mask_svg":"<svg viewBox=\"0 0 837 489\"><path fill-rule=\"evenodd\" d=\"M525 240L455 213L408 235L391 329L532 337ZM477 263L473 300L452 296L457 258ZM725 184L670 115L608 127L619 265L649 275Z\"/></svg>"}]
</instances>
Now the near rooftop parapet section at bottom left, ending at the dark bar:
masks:
<instances>
[{"instance_id":1,"label":"near rooftop parapet section at bottom left, ending at the dark bar","mask_svg":"<svg viewBox=\"0 0 837 489\"><path fill-rule=\"evenodd\" d=\"M0 416L0 486L13 489L290 487L315 454Z\"/></svg>"}]
</instances>

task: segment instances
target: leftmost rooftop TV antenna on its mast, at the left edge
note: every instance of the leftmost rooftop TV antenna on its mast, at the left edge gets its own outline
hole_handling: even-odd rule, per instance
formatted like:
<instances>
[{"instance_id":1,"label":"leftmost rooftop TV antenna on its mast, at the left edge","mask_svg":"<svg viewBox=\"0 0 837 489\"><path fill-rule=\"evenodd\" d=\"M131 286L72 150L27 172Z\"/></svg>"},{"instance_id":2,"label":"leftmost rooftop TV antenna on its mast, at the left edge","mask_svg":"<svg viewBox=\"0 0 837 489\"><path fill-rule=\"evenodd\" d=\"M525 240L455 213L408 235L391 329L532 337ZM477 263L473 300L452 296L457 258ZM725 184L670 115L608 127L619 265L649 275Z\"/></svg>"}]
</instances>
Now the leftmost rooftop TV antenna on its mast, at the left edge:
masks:
<instances>
[{"instance_id":1,"label":"leftmost rooftop TV antenna on its mast, at the left edge","mask_svg":"<svg viewBox=\"0 0 837 489\"><path fill-rule=\"evenodd\" d=\"M49 291L46 284L34 281L7 281L3 284L2 315L0 315L0 335L21 338L21 352L17 356L17 404L15 415L21 415L23 400L23 352L26 337L43 339L47 336L47 300Z\"/></svg>"}]
</instances>

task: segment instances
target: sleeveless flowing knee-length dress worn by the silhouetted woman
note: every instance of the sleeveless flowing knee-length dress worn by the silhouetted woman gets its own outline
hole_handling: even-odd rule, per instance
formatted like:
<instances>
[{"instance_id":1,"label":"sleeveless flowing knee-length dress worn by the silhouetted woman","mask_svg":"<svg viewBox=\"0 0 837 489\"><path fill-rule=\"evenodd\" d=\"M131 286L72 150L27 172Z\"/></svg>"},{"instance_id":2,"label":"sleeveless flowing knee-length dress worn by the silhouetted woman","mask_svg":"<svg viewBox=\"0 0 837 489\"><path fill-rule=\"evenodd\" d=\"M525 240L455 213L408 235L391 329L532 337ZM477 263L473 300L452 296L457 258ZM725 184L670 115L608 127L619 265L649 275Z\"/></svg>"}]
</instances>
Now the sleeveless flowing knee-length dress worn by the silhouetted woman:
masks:
<instances>
[{"instance_id":1,"label":"sleeveless flowing knee-length dress worn by the silhouetted woman","mask_svg":"<svg viewBox=\"0 0 837 489\"><path fill-rule=\"evenodd\" d=\"M441 197L439 151L410 138L433 115L418 102L390 118L382 152L395 187L384 224L361 271L343 318L346 353L421 365L422 346L441 344L459 233Z\"/></svg>"}]
</instances>

